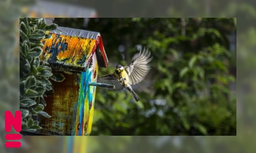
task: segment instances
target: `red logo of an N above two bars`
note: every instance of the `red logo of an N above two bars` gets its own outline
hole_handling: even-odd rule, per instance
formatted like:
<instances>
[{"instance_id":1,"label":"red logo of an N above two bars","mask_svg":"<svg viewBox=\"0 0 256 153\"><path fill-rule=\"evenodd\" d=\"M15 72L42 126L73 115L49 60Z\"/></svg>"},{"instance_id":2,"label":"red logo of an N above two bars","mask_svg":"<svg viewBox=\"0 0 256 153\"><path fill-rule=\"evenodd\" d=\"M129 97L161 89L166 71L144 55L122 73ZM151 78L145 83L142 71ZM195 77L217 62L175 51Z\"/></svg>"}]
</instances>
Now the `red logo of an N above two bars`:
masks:
<instances>
[{"instance_id":1,"label":"red logo of an N above two bars","mask_svg":"<svg viewBox=\"0 0 256 153\"><path fill-rule=\"evenodd\" d=\"M15 129L17 134L6 134L6 140L20 140L21 135L21 112L17 110L15 112L15 117L11 114L9 110L5 112L5 132L9 133L11 131L11 125ZM20 148L21 143L19 141L8 141L5 143L6 148Z\"/></svg>"}]
</instances>

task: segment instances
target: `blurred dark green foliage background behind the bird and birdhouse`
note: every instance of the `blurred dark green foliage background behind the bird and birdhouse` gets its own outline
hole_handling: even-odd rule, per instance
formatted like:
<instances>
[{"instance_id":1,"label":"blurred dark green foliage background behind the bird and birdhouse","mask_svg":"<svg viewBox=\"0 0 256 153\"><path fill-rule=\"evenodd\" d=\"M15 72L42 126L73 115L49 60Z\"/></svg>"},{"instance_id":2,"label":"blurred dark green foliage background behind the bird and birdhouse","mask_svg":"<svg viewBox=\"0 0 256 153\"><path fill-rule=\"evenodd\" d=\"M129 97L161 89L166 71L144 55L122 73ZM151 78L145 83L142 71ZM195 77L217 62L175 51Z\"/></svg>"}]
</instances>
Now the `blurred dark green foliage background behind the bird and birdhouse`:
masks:
<instances>
[{"instance_id":1,"label":"blurred dark green foliage background behind the bird and birdhouse","mask_svg":"<svg viewBox=\"0 0 256 153\"><path fill-rule=\"evenodd\" d=\"M56 18L98 31L112 73L147 47L145 80L126 91L97 88L91 135L236 135L236 20L233 18ZM232 41L232 38L234 41Z\"/></svg>"}]
</instances>

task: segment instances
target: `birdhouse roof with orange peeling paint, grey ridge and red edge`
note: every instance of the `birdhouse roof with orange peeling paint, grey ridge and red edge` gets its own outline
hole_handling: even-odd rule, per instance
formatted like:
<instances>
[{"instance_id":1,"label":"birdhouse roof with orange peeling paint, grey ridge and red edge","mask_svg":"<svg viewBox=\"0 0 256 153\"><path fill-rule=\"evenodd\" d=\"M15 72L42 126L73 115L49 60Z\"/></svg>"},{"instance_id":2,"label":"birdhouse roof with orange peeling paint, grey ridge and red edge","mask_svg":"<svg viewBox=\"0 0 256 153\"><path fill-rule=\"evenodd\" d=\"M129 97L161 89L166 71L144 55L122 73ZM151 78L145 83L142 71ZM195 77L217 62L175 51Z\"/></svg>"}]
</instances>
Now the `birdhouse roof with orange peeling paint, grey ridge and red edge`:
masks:
<instances>
[{"instance_id":1,"label":"birdhouse roof with orange peeling paint, grey ridge and red edge","mask_svg":"<svg viewBox=\"0 0 256 153\"><path fill-rule=\"evenodd\" d=\"M94 53L100 67L108 66L100 33L67 27L58 27L47 33L51 38L42 41L41 60L47 61L51 67L65 71L85 71Z\"/></svg>"}]
</instances>

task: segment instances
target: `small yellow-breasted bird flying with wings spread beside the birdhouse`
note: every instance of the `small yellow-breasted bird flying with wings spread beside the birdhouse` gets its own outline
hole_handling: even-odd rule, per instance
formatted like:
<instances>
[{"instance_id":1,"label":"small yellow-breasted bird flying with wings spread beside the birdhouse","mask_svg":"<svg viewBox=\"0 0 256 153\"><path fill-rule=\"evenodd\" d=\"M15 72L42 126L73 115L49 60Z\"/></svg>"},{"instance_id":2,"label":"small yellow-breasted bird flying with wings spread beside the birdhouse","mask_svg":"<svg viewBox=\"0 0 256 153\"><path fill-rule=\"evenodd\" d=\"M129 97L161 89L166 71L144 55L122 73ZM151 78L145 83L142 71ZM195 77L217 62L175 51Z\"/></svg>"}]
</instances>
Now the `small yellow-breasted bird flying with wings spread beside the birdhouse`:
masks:
<instances>
[{"instance_id":1,"label":"small yellow-breasted bird flying with wings spread beside the birdhouse","mask_svg":"<svg viewBox=\"0 0 256 153\"><path fill-rule=\"evenodd\" d=\"M148 49L140 50L133 57L133 61L128 66L118 64L113 74L104 75L97 79L98 83L115 85L115 89L108 88L107 90L122 90L127 89L133 98L138 102L140 99L133 91L131 84L138 84L148 74L150 65L148 64L153 57L150 57Z\"/></svg>"}]
</instances>

